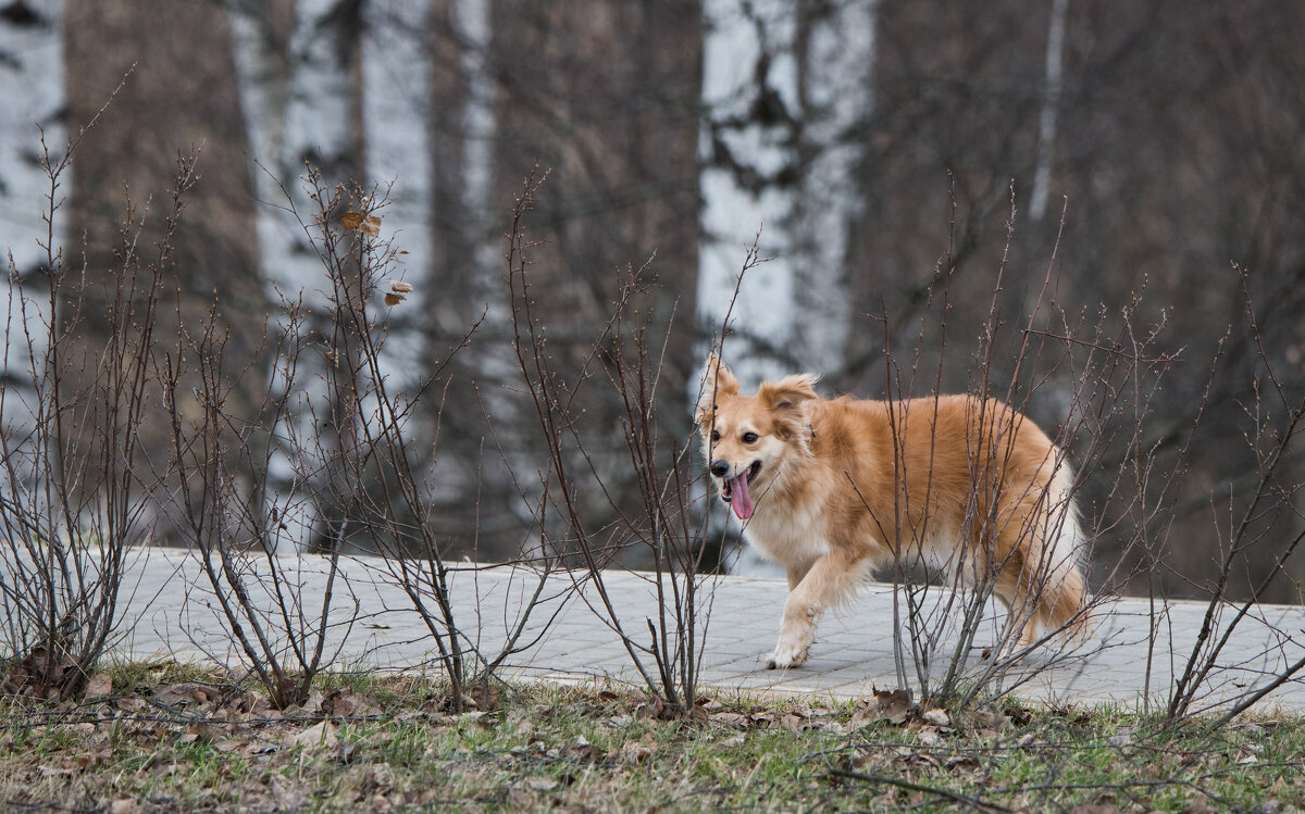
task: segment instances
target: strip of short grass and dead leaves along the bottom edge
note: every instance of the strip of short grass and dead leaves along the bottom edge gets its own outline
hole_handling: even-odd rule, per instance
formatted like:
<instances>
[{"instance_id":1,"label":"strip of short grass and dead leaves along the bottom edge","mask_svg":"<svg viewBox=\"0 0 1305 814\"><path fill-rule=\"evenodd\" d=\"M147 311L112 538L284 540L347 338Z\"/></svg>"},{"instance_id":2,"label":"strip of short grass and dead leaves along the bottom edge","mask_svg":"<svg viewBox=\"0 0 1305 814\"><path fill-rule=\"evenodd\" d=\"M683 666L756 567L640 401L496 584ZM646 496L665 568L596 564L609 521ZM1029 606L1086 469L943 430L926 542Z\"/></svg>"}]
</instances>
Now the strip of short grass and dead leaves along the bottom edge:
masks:
<instances>
[{"instance_id":1,"label":"strip of short grass and dead leaves along the bottom edge","mask_svg":"<svg viewBox=\"0 0 1305 814\"><path fill-rule=\"evenodd\" d=\"M130 811L1291 810L1305 724L1161 732L1120 710L974 712L530 685L449 715L438 684L324 676L273 710L224 674L123 664L112 695L0 704L0 802ZM100 682L104 686L104 682ZM1267 807L1266 807L1267 806Z\"/></svg>"}]
</instances>

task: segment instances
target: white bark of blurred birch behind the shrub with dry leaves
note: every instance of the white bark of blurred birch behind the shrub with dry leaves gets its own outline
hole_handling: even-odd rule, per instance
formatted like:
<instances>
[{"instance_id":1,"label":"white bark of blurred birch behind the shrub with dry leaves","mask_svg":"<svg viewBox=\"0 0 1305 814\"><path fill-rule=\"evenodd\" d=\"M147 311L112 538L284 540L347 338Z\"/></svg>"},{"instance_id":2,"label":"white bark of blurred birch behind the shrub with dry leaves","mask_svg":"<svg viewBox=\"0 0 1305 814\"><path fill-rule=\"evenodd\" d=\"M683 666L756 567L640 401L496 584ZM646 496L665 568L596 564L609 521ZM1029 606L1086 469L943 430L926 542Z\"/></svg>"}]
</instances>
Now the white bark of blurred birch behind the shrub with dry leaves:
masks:
<instances>
[{"instance_id":1,"label":"white bark of blurred birch behind the shrub with dry leaves","mask_svg":"<svg viewBox=\"0 0 1305 814\"><path fill-rule=\"evenodd\" d=\"M315 217L318 206L308 197L304 179L307 164L320 167L329 184L348 183L347 171L356 166L356 127L360 119L350 60L345 57L339 30L339 0L296 0L288 42L282 44L273 30L271 9L266 4L241 4L232 12L235 63L245 112L258 205L258 243L264 278L271 301L287 305L301 299L309 309L322 309L329 301L330 283L313 248ZM307 231L305 231L307 224ZM288 322L279 317L281 327ZM271 372L274 398L292 399L287 415L292 425L274 428L281 440L269 462L278 494L279 514L298 549L308 544L317 523L317 510L299 484L311 477L329 455L317 441L313 410L322 411L326 394L317 370L321 360L316 348L303 351L296 386L286 389L278 368Z\"/></svg>"}]
</instances>

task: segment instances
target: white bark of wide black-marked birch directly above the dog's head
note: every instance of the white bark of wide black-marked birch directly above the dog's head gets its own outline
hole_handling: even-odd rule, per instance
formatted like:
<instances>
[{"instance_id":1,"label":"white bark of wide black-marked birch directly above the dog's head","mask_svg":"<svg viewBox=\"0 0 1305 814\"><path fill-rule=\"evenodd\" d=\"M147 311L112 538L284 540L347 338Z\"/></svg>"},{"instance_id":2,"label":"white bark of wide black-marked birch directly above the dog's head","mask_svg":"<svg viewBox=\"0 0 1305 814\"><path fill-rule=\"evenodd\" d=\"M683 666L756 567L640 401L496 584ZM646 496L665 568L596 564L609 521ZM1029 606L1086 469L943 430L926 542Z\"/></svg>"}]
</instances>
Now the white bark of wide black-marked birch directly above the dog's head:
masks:
<instances>
[{"instance_id":1,"label":"white bark of wide black-marked birch directly above the dog's head","mask_svg":"<svg viewBox=\"0 0 1305 814\"><path fill-rule=\"evenodd\" d=\"M851 133L872 103L874 1L838 4L806 26L797 13L783 0L706 7L698 317L719 334L763 227L761 253L775 260L748 273L724 326L729 364L750 384L835 368L852 320L847 249L863 149ZM731 570L776 573L750 549Z\"/></svg>"}]
</instances>

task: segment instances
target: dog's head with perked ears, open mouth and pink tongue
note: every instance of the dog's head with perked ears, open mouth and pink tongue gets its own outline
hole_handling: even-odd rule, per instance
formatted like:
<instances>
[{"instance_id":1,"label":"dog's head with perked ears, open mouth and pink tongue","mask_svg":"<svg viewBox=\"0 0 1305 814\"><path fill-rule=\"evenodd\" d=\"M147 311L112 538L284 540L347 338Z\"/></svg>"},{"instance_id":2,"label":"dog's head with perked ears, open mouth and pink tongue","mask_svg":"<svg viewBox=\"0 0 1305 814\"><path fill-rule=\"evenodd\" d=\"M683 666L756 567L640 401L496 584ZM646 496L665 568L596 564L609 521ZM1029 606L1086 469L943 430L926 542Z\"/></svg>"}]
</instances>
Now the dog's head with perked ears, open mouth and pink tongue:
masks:
<instances>
[{"instance_id":1,"label":"dog's head with perked ears, open mouth and pink tongue","mask_svg":"<svg viewBox=\"0 0 1305 814\"><path fill-rule=\"evenodd\" d=\"M698 399L697 423L707 471L740 520L752 517L753 494L761 494L786 458L805 453L806 410L820 376L799 373L763 382L756 395L740 393L739 380L715 354Z\"/></svg>"}]
</instances>

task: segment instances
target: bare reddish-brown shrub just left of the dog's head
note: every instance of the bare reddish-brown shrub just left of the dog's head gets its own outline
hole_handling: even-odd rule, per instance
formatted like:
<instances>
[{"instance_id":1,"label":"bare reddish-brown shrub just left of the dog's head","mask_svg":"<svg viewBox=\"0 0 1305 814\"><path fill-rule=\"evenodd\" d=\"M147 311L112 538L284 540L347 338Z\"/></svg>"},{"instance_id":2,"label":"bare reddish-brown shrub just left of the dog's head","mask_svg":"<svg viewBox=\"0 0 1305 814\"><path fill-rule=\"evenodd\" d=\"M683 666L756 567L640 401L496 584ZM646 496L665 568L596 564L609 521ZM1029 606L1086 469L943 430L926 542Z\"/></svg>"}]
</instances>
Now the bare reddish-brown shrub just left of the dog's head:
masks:
<instances>
[{"instance_id":1,"label":"bare reddish-brown shrub just left of the dog's head","mask_svg":"<svg viewBox=\"0 0 1305 814\"><path fill-rule=\"evenodd\" d=\"M538 170L536 170L538 171ZM667 337L654 334L641 309L649 280L646 266L617 274L611 313L596 329L591 352L576 368L557 363L547 344L548 326L534 308L530 237L526 215L547 176L525 181L509 236L513 348L530 406L545 446L538 483L523 485L539 531L542 556L574 566L577 592L620 639L659 710L693 710L702 637L710 618L710 592L702 565L709 549L703 493L693 438L664 436L659 403ZM673 329L668 329L673 330ZM624 445L613 446L607 428L586 424L583 390L606 382L617 400ZM676 406L675 408L686 408ZM612 466L634 472L634 497L622 501L604 487ZM602 496L612 520L592 524L585 496ZM622 557L646 554L642 575L655 597L655 614L629 618L622 597L608 590L606 570Z\"/></svg>"}]
</instances>

